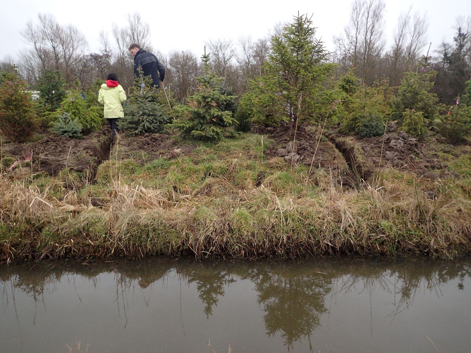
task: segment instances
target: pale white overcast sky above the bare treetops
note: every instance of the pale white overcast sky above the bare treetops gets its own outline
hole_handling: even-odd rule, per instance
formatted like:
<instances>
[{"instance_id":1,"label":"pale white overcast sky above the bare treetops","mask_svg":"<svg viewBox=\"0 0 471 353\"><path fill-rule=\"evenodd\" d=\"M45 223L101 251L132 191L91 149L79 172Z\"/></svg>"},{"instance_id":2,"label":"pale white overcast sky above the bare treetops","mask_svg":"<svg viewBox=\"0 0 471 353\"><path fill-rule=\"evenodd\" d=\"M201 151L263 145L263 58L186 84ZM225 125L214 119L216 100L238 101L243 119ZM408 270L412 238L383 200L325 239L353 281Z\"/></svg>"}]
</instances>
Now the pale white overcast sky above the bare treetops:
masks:
<instances>
[{"instance_id":1,"label":"pale white overcast sky above the bare treetops","mask_svg":"<svg viewBox=\"0 0 471 353\"><path fill-rule=\"evenodd\" d=\"M412 12L425 14L429 21L428 40L432 49L445 40L453 41L456 18L471 15L470 0L384 0L385 35L392 39L401 12L412 4ZM37 23L39 13L50 13L62 25L75 25L86 37L89 51L99 48L98 33L109 32L111 25L126 25L126 15L138 12L150 25L152 44L163 54L172 50L189 49L200 56L204 41L210 39L237 39L251 35L252 40L264 37L278 22L286 22L300 13L313 14L317 37L333 50L332 38L343 33L349 21L352 1L258 1L258 0L206 0L206 1L7 1L0 5L0 60L15 58L19 50L28 48L20 32L29 19ZM425 49L426 50L426 49Z\"/></svg>"}]
</instances>

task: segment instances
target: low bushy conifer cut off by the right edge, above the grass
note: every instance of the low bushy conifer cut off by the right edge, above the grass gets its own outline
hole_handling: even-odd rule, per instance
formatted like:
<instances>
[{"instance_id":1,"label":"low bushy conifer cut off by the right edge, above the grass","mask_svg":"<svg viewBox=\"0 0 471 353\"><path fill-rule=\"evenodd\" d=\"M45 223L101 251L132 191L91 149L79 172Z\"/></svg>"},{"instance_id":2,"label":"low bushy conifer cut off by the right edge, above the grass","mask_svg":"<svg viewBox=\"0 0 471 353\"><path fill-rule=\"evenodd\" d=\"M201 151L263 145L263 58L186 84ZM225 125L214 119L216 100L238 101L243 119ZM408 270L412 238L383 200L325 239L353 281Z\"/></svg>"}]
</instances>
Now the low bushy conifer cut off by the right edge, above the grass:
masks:
<instances>
[{"instance_id":1,"label":"low bushy conifer cut off by the right edge, above the grass","mask_svg":"<svg viewBox=\"0 0 471 353\"><path fill-rule=\"evenodd\" d=\"M471 136L471 107L465 104L452 105L447 110L448 114L442 115L436 123L440 135L453 144Z\"/></svg>"}]
</instances>

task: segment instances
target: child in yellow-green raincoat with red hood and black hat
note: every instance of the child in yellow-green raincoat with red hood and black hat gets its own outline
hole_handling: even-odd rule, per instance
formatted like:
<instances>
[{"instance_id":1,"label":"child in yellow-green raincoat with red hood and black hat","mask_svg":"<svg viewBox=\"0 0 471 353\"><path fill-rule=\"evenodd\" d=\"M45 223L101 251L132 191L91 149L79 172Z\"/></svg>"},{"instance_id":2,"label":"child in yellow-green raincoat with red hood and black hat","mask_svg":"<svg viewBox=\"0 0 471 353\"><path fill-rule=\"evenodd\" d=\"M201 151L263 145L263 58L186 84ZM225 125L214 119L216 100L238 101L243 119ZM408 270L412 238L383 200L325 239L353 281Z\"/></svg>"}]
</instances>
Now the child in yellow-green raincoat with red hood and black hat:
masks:
<instances>
[{"instance_id":1,"label":"child in yellow-green raincoat with red hood and black hat","mask_svg":"<svg viewBox=\"0 0 471 353\"><path fill-rule=\"evenodd\" d=\"M119 134L118 120L124 118L122 104L126 102L126 92L118 82L115 73L109 73L106 81L101 85L98 92L98 102L104 104L104 115L111 127L111 142L113 142L116 134Z\"/></svg>"}]
</instances>

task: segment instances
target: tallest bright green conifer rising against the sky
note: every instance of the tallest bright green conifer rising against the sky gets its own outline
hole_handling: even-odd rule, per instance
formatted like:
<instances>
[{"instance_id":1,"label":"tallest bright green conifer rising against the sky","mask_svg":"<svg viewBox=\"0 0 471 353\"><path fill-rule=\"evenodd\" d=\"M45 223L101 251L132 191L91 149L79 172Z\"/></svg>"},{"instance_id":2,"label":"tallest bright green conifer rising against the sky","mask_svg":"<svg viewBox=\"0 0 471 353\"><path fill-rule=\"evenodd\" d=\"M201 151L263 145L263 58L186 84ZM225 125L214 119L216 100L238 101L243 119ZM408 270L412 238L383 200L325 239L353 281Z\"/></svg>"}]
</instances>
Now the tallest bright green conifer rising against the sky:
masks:
<instances>
[{"instance_id":1,"label":"tallest bright green conifer rising against the sky","mask_svg":"<svg viewBox=\"0 0 471 353\"><path fill-rule=\"evenodd\" d=\"M265 72L249 80L246 95L252 100L252 121L263 125L290 128L304 121L334 122L342 115L341 100L346 94L339 88L328 89L335 64L327 63L330 54L315 38L315 28L307 16L295 16L281 35L271 37Z\"/></svg>"}]
</instances>

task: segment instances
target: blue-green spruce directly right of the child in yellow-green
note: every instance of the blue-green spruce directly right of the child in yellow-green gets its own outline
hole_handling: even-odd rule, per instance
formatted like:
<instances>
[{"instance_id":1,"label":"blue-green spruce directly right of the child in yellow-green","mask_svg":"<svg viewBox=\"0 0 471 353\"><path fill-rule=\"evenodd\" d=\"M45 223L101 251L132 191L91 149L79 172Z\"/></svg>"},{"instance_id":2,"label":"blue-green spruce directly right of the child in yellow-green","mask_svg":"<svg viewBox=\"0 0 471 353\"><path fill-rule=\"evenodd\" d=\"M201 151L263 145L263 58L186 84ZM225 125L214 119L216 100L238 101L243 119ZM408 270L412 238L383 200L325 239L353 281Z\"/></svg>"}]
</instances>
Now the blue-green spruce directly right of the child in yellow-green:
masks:
<instances>
[{"instance_id":1,"label":"blue-green spruce directly right of the child in yellow-green","mask_svg":"<svg viewBox=\"0 0 471 353\"><path fill-rule=\"evenodd\" d=\"M155 101L157 95L149 77L136 77L131 91L127 105L124 106L124 118L119 120L119 128L130 136L165 130L171 117L168 109Z\"/></svg>"}]
</instances>

